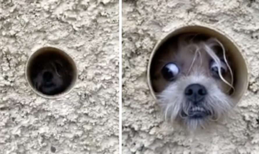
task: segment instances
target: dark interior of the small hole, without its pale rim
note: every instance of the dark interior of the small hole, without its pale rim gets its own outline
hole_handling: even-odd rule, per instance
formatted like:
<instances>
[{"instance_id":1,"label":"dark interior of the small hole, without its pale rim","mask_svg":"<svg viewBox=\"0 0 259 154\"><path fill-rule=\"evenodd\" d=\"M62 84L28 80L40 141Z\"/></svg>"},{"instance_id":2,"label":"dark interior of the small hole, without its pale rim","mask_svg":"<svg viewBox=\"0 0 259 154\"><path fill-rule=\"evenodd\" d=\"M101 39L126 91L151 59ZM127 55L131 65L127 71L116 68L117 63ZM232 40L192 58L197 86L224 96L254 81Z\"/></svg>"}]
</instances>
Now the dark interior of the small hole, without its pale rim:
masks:
<instances>
[{"instance_id":1,"label":"dark interior of the small hole, without its pale rim","mask_svg":"<svg viewBox=\"0 0 259 154\"><path fill-rule=\"evenodd\" d=\"M33 87L46 95L64 92L72 83L73 70L68 58L58 51L45 51L29 64L29 80Z\"/></svg>"}]
</instances>

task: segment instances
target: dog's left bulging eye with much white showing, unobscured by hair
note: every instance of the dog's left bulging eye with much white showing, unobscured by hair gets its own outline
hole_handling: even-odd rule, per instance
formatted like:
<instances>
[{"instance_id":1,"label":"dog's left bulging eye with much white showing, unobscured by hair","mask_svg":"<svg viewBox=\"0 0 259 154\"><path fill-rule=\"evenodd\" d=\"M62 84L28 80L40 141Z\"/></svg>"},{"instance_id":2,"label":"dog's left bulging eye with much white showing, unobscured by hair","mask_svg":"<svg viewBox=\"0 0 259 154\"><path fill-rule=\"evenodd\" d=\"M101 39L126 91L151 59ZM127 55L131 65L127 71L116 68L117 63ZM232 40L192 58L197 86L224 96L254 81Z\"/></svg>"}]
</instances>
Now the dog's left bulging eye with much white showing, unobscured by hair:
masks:
<instances>
[{"instance_id":1,"label":"dog's left bulging eye with much white showing, unobscured by hair","mask_svg":"<svg viewBox=\"0 0 259 154\"><path fill-rule=\"evenodd\" d=\"M175 79L176 75L179 73L179 68L175 63L168 63L162 68L162 75L163 77L168 80L172 81Z\"/></svg>"}]
</instances>

